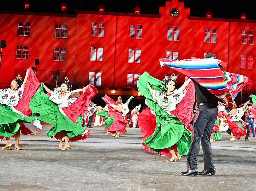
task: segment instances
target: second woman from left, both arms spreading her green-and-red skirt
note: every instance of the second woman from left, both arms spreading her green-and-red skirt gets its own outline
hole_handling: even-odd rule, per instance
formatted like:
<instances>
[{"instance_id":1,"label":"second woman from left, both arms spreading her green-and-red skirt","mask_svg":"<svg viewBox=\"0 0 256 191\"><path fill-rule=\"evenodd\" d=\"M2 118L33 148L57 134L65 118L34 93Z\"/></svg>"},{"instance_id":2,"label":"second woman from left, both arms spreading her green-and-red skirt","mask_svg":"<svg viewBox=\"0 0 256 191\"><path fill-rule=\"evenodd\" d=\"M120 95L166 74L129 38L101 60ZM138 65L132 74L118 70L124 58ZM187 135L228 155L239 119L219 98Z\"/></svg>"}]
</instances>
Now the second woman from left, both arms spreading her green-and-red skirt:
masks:
<instances>
[{"instance_id":1,"label":"second woman from left, both arms spreading her green-and-red skirt","mask_svg":"<svg viewBox=\"0 0 256 191\"><path fill-rule=\"evenodd\" d=\"M43 93L44 88L50 97ZM77 141L88 138L89 130L81 127L82 116L91 102L91 99L97 94L97 89L88 85L83 89L71 91L72 84L66 77L64 83L61 84L60 90L51 91L43 83L37 90L36 94L30 101L30 108L34 116L41 121L47 122L52 127L48 132L49 138L55 137L59 139L59 149L66 150L70 148L69 141ZM84 91L76 101L69 103L70 98L77 92ZM64 137L65 145L62 145Z\"/></svg>"}]
</instances>

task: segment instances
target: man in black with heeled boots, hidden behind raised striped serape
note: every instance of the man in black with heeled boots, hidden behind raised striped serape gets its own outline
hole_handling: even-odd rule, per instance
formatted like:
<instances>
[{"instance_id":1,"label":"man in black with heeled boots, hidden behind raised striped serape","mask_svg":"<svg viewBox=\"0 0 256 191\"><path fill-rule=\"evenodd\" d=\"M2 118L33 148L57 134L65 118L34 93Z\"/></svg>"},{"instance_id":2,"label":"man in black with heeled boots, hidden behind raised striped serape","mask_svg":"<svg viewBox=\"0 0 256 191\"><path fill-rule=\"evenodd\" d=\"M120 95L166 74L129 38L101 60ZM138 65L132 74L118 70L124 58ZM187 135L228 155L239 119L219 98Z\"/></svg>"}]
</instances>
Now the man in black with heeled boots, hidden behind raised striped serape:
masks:
<instances>
[{"instance_id":1,"label":"man in black with heeled boots, hidden behind raised striped serape","mask_svg":"<svg viewBox=\"0 0 256 191\"><path fill-rule=\"evenodd\" d=\"M208 54L206 58L214 57ZM187 157L187 172L180 174L185 176L194 175L215 175L216 169L211 153L210 137L214 127L214 123L218 116L217 97L207 89L199 85L195 80L191 79L195 84L196 102L198 109L194 117L193 131L191 136L191 146ZM203 150L204 170L198 171L197 158L200 150L200 141Z\"/></svg>"}]
</instances>

